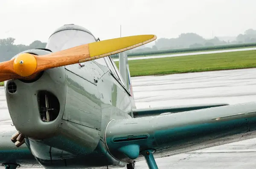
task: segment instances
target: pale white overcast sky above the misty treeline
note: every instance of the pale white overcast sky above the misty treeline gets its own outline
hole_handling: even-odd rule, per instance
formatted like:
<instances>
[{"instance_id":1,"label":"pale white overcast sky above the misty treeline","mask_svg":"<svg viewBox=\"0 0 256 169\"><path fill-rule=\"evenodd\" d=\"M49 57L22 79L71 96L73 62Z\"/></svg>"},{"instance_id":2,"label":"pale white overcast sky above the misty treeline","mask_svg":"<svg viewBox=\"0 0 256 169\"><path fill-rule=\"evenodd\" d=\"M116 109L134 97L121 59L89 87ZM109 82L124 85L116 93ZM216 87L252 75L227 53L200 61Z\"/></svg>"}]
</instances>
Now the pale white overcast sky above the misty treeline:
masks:
<instances>
[{"instance_id":1,"label":"pale white overcast sky above the misty treeline","mask_svg":"<svg viewBox=\"0 0 256 169\"><path fill-rule=\"evenodd\" d=\"M158 38L194 32L205 38L256 29L256 0L0 0L0 39L47 42L74 23L101 40L137 34Z\"/></svg>"}]
</instances>

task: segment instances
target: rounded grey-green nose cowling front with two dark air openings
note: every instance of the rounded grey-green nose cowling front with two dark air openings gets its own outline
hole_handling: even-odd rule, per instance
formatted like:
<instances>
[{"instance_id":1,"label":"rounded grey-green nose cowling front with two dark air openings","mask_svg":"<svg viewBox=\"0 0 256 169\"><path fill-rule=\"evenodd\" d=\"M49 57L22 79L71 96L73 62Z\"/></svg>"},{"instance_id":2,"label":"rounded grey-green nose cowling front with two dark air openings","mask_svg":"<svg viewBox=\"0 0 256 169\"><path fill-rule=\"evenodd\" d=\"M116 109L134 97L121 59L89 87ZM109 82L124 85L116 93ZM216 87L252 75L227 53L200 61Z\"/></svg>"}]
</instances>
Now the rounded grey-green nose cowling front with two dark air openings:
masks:
<instances>
[{"instance_id":1,"label":"rounded grey-green nose cowling front with two dark air openings","mask_svg":"<svg viewBox=\"0 0 256 169\"><path fill-rule=\"evenodd\" d=\"M44 71L35 82L5 82L9 114L23 135L44 139L61 123L66 98L64 67Z\"/></svg>"}]
</instances>

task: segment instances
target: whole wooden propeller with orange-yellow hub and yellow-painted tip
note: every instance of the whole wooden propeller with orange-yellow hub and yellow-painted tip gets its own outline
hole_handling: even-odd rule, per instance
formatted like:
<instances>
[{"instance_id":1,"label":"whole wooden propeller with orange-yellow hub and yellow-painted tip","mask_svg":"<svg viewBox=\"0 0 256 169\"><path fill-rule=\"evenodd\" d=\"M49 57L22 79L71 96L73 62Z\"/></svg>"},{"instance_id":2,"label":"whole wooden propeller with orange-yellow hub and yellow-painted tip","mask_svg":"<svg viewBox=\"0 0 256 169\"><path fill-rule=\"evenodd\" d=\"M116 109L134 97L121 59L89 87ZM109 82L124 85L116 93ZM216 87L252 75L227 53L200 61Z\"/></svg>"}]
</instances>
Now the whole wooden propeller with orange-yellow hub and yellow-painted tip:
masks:
<instances>
[{"instance_id":1,"label":"whole wooden propeller with orange-yellow hub and yellow-painted tip","mask_svg":"<svg viewBox=\"0 0 256 169\"><path fill-rule=\"evenodd\" d=\"M20 54L15 59L0 63L0 82L9 79L29 79L42 70L118 54L155 39L155 35L137 35L93 42L41 56Z\"/></svg>"}]
</instances>

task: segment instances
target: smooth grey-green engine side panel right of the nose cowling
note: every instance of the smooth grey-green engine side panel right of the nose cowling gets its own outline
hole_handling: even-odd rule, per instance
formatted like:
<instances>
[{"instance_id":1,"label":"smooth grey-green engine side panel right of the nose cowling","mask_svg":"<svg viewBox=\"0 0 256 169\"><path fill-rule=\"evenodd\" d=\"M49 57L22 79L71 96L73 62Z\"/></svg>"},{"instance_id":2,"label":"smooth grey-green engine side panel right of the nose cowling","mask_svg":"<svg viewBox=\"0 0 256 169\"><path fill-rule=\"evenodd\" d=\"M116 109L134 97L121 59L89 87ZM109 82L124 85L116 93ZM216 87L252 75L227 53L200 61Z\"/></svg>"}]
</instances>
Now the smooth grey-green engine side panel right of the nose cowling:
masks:
<instances>
[{"instance_id":1,"label":"smooth grey-green engine side panel right of the nose cowling","mask_svg":"<svg viewBox=\"0 0 256 169\"><path fill-rule=\"evenodd\" d=\"M66 83L67 97L63 119L100 130L101 108L97 86L68 70Z\"/></svg>"}]
</instances>

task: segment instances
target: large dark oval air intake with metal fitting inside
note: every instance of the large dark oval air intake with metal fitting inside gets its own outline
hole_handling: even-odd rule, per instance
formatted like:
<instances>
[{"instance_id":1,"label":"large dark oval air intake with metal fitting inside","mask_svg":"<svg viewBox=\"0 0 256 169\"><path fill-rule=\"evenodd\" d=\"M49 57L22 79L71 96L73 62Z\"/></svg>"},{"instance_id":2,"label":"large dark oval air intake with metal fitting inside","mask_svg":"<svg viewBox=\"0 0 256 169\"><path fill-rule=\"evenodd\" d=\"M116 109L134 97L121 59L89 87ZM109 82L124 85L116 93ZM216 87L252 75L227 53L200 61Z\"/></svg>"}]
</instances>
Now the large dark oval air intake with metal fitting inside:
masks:
<instances>
[{"instance_id":1,"label":"large dark oval air intake with metal fitting inside","mask_svg":"<svg viewBox=\"0 0 256 169\"><path fill-rule=\"evenodd\" d=\"M60 112L60 103L54 94L48 91L38 92L38 105L42 121L49 122L58 117Z\"/></svg>"}]
</instances>

